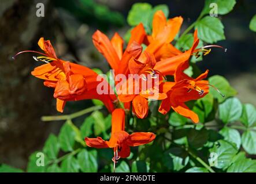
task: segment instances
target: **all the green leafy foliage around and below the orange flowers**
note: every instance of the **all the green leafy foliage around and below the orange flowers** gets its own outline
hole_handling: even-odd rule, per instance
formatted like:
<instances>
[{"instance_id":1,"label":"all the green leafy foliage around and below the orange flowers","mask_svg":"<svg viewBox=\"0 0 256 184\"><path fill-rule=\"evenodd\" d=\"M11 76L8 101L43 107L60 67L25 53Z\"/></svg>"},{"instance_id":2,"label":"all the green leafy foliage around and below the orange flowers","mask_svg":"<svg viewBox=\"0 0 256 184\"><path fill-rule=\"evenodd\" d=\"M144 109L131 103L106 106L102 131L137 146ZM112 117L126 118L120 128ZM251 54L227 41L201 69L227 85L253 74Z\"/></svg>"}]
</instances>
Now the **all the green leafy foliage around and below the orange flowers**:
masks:
<instances>
[{"instance_id":1,"label":"all the green leafy foliage around and below the orange flowers","mask_svg":"<svg viewBox=\"0 0 256 184\"><path fill-rule=\"evenodd\" d=\"M229 13L236 3L234 0L206 0L198 19L173 41L172 44L177 49L181 51L190 49L194 41L192 29L198 29L198 36L202 40L198 48L225 39L221 20L207 16L212 2L217 3L218 14L221 15ZM112 16L117 16L113 12L106 15L109 9L104 5L95 6L92 0L83 0L80 3L89 7L93 11L92 14L101 20L109 20ZM69 8L72 9L72 6ZM128 13L128 24L134 27L142 22L146 32L150 34L154 13L159 9L164 11L166 17L169 16L166 5L153 7L149 3L135 3ZM72 9L74 10L78 10L77 7ZM79 14L77 11L77 16ZM250 28L255 30L255 16L252 21ZM129 39L131 29L125 35L125 40ZM197 75L198 68L194 63L202 59L202 56L198 59L192 56L190 62L193 64L186 73L190 76ZM94 71L102 74L97 68ZM110 85L114 86L113 76L110 73L106 76ZM126 159L118 160L116 172L256 172L256 160L249 158L251 155L256 155L255 107L251 104L242 104L234 97L236 90L223 76L211 76L209 84L217 87L225 97L222 97L214 87L210 87L210 92L205 97L187 103L190 109L198 114L198 124L193 124L191 120L172 110L166 115L155 113L159 107L157 101L150 102L149 117L144 120L138 120L132 113L127 114L125 124L127 132L146 130L154 132L157 136L153 143L131 147L131 155ZM102 105L102 102L97 100L93 100L93 103ZM100 136L104 140L110 139L112 116L96 107L92 107L95 108L93 112L91 111L91 114L79 122L73 121L73 118L78 117L77 115L66 116L60 133L50 134L42 151L36 151L29 156L26 171L112 172L113 150L110 148L97 150L87 147L84 142L84 137ZM210 162L212 153L217 154L217 164L214 165ZM0 172L22 172L22 170L1 164Z\"/></svg>"}]
</instances>

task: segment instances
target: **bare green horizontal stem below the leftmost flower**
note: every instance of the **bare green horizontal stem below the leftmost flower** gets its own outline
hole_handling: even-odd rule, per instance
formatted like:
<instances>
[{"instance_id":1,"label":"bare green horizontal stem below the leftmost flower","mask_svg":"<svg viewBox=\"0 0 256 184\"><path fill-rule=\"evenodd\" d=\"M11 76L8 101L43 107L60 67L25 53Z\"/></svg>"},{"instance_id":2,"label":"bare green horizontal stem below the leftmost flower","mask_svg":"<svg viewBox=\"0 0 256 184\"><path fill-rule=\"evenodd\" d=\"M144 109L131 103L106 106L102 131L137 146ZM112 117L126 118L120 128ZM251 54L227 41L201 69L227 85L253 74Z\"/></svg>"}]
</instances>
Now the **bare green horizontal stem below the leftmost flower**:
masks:
<instances>
[{"instance_id":1,"label":"bare green horizontal stem below the leftmost flower","mask_svg":"<svg viewBox=\"0 0 256 184\"><path fill-rule=\"evenodd\" d=\"M79 112L68 114L68 115L61 115L61 116L42 116L42 121L59 121L59 120L71 120L73 118L83 116L84 114L93 112L95 110L102 109L102 106L92 106L91 108L87 108L84 110L80 110Z\"/></svg>"}]
</instances>

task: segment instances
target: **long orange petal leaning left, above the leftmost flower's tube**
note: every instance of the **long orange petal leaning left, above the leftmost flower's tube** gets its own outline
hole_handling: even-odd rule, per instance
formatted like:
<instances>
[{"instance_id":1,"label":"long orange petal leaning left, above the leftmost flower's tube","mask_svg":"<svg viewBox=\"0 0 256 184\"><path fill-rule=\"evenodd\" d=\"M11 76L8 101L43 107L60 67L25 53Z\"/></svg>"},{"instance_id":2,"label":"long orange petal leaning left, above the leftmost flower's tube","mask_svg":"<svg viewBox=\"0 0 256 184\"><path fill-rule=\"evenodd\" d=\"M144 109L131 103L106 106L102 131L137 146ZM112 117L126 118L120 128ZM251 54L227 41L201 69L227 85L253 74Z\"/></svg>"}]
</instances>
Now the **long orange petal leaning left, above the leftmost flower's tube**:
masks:
<instances>
[{"instance_id":1,"label":"long orange petal leaning left, above the leftmost flower's tube","mask_svg":"<svg viewBox=\"0 0 256 184\"><path fill-rule=\"evenodd\" d=\"M107 62L109 62L110 67L114 70L117 70L119 67L120 59L107 36L97 30L92 35L92 41L98 51L101 52L102 55L106 58Z\"/></svg>"}]
</instances>

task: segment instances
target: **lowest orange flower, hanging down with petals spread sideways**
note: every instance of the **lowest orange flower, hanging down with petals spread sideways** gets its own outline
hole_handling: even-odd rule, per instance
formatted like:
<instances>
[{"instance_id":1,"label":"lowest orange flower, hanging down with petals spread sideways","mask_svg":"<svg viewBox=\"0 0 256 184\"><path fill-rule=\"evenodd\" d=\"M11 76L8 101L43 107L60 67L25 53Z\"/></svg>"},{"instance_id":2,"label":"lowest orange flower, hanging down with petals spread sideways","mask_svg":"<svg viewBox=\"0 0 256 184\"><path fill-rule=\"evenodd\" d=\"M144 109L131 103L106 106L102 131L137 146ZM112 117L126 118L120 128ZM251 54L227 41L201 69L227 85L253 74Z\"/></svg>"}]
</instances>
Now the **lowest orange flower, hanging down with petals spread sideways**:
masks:
<instances>
[{"instance_id":1,"label":"lowest orange flower, hanging down with petals spread sideways","mask_svg":"<svg viewBox=\"0 0 256 184\"><path fill-rule=\"evenodd\" d=\"M112 112L112 131L109 141L103 140L101 137L88 138L84 140L88 147L94 148L113 148L114 162L119 158L127 158L130 155L130 146L139 146L150 143L155 139L154 133L151 132L135 132L129 135L124 131L125 113L123 109L115 109Z\"/></svg>"}]
</instances>

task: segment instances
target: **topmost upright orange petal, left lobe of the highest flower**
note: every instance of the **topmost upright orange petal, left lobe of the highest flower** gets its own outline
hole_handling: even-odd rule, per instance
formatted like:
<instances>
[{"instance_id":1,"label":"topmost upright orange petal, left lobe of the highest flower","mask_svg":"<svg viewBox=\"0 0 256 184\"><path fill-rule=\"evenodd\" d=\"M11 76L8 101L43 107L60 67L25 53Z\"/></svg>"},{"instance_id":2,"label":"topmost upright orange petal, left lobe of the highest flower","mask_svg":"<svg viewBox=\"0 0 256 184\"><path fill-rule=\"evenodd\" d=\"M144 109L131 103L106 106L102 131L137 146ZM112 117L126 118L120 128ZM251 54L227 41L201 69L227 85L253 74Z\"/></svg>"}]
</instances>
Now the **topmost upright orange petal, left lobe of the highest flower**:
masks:
<instances>
[{"instance_id":1,"label":"topmost upright orange petal, left lobe of the highest flower","mask_svg":"<svg viewBox=\"0 0 256 184\"><path fill-rule=\"evenodd\" d=\"M155 39L157 34L162 32L164 27L166 26L166 17L162 10L158 10L155 12L152 22L152 37Z\"/></svg>"}]
</instances>

